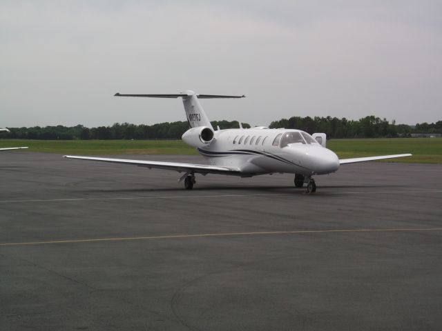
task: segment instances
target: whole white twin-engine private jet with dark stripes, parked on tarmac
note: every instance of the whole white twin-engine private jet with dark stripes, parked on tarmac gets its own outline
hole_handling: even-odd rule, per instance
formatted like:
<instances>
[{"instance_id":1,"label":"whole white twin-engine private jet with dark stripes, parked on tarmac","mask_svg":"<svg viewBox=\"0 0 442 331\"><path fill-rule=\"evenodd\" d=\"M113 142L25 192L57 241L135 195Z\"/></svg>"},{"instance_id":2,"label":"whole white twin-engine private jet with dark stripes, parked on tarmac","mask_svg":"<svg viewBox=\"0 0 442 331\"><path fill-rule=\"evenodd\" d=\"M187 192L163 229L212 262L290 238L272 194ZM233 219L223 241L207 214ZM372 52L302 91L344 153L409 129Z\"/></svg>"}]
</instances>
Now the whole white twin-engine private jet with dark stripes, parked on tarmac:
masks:
<instances>
[{"instance_id":1,"label":"whole white twin-engine private jet with dark stripes, parked on tarmac","mask_svg":"<svg viewBox=\"0 0 442 331\"><path fill-rule=\"evenodd\" d=\"M138 165L146 168L176 170L184 172L178 181L184 180L186 189L193 188L195 174L228 174L239 177L253 177L258 174L295 174L294 184L300 188L307 183L307 193L316 191L312 176L336 172L339 165L411 154L384 155L341 159L332 150L325 148L326 136L293 129L269 129L264 126L244 129L213 130L198 99L243 98L242 96L195 94L191 90L180 94L115 94L116 97L182 98L184 110L191 128L184 132L182 140L209 160L210 165L108 159L102 157L77 157L70 159L103 161Z\"/></svg>"}]
</instances>

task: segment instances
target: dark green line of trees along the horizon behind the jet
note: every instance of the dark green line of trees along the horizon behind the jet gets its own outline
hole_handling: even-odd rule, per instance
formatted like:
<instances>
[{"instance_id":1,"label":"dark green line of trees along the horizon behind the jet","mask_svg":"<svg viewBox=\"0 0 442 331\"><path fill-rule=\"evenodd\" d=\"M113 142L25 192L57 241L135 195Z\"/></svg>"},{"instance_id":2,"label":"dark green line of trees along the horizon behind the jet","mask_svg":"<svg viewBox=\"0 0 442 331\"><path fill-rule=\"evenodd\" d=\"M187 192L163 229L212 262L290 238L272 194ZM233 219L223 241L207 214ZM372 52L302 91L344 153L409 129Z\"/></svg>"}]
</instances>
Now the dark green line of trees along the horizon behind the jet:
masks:
<instances>
[{"instance_id":1,"label":"dark green line of trees along the horizon behind the jet","mask_svg":"<svg viewBox=\"0 0 442 331\"><path fill-rule=\"evenodd\" d=\"M238 121L212 121L213 128L239 128ZM243 128L250 128L242 123ZM417 123L416 126L396 125L386 119L367 116L359 120L338 119L337 117L290 117L271 122L269 128L299 129L309 132L325 132L329 138L381 138L410 137L412 133L442 134L442 121L436 123ZM41 139L41 140L73 140L73 139L180 139L189 130L186 121L157 123L153 126L144 124L115 123L113 126L34 126L32 128L9 128L3 134L6 139Z\"/></svg>"}]
</instances>

